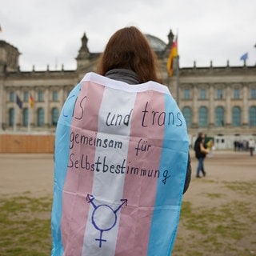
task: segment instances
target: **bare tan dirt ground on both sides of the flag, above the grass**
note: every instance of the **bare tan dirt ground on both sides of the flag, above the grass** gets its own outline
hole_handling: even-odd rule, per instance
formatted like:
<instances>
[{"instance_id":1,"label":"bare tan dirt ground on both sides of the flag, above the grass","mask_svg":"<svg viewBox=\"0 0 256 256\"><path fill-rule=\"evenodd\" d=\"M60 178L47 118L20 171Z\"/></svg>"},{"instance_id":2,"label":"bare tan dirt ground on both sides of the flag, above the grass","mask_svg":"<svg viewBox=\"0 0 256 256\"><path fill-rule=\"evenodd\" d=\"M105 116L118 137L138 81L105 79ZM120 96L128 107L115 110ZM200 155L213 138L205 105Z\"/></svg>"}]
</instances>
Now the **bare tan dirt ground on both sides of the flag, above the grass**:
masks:
<instances>
[{"instance_id":1,"label":"bare tan dirt ground on both sides of the flag, above the grass","mask_svg":"<svg viewBox=\"0 0 256 256\"><path fill-rule=\"evenodd\" d=\"M249 152L215 151L205 160L206 177L199 179L194 178L194 152L190 154L192 179L183 199L197 206L205 204L202 191L216 192L216 182L256 182L256 155L250 157ZM52 154L0 154L0 174L0 195L28 191L33 196L52 194L54 158ZM206 182L209 180L214 182Z\"/></svg>"}]
</instances>

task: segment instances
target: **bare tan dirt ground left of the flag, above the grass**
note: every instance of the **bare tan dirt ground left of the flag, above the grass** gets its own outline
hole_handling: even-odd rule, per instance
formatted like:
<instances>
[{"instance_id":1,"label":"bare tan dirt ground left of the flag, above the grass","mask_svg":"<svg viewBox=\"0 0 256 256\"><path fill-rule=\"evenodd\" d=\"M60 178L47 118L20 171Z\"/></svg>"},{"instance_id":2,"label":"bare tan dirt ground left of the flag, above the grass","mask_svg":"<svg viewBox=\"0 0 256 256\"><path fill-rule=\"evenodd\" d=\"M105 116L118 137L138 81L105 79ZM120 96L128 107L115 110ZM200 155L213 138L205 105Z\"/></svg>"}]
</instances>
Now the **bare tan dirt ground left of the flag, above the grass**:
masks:
<instances>
[{"instance_id":1,"label":"bare tan dirt ground left of the flag, above the grass","mask_svg":"<svg viewBox=\"0 0 256 256\"><path fill-rule=\"evenodd\" d=\"M30 192L33 197L52 195L52 154L0 154L0 197Z\"/></svg>"}]
</instances>

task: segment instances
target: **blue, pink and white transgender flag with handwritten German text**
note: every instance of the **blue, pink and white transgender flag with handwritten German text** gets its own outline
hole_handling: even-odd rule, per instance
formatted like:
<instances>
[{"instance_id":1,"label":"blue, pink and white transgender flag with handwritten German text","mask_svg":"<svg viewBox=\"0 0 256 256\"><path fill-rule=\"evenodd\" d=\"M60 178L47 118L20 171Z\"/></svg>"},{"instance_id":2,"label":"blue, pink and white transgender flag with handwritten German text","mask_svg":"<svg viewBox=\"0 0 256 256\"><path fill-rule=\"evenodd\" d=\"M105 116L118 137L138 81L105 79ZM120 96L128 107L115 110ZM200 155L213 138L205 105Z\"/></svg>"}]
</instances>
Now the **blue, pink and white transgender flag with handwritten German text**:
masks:
<instances>
[{"instance_id":1,"label":"blue, pink and white transgender flag with handwritten German text","mask_svg":"<svg viewBox=\"0 0 256 256\"><path fill-rule=\"evenodd\" d=\"M188 148L166 86L86 74L58 120L52 255L169 256Z\"/></svg>"}]
</instances>

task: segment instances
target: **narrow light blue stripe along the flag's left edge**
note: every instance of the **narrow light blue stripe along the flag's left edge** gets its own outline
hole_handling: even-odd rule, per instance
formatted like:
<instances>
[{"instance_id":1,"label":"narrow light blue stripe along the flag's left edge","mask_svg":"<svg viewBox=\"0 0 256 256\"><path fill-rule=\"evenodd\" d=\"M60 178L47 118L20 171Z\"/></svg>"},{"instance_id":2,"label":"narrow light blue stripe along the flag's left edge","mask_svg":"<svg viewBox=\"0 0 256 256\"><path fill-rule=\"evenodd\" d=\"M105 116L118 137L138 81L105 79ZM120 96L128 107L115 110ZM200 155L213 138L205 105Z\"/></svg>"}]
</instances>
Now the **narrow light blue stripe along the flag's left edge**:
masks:
<instances>
[{"instance_id":1,"label":"narrow light blue stripe along the flag's left edge","mask_svg":"<svg viewBox=\"0 0 256 256\"><path fill-rule=\"evenodd\" d=\"M78 86L75 86L70 92L70 95L66 99L62 108L62 113L58 119L58 126L56 130L54 149L54 202L51 216L53 239L52 256L61 256L63 254L61 236L62 190L66 179L67 162L69 160L70 153L70 124L72 122L74 104L78 98L80 88L81 83L79 83Z\"/></svg>"}]
</instances>

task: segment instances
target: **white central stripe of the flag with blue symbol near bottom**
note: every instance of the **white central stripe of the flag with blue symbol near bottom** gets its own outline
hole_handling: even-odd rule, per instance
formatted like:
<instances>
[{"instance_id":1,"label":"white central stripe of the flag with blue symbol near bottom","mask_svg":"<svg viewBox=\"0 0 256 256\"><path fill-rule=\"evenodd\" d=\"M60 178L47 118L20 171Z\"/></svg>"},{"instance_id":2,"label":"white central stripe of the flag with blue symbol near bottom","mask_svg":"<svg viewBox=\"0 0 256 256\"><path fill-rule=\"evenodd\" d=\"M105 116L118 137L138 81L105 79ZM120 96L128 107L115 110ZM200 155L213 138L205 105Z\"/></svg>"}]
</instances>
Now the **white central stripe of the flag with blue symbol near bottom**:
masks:
<instances>
[{"instance_id":1,"label":"white central stripe of the flag with blue symbol near bottom","mask_svg":"<svg viewBox=\"0 0 256 256\"><path fill-rule=\"evenodd\" d=\"M99 111L98 138L102 138L102 141L107 138L108 142L113 140L117 144L115 147L107 147L104 150L96 148L94 161L102 164L99 171L94 170L91 195L94 201L90 203L82 249L83 256L96 254L97 256L114 256L121 208L125 207L125 204L122 205L124 202L122 199L126 199L122 198L125 174L118 173L118 170L121 172L122 166L126 166L130 121L135 98L136 93L105 87ZM127 126L119 126L115 123L117 115L119 118L122 117L122 122L126 122ZM106 119L108 116L109 118ZM103 166L104 161L105 166ZM111 165L114 165L114 168L110 172ZM99 249L98 247L102 250L97 250L95 254L95 249Z\"/></svg>"}]
</instances>

